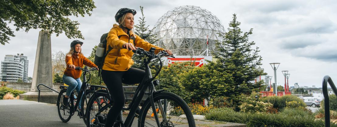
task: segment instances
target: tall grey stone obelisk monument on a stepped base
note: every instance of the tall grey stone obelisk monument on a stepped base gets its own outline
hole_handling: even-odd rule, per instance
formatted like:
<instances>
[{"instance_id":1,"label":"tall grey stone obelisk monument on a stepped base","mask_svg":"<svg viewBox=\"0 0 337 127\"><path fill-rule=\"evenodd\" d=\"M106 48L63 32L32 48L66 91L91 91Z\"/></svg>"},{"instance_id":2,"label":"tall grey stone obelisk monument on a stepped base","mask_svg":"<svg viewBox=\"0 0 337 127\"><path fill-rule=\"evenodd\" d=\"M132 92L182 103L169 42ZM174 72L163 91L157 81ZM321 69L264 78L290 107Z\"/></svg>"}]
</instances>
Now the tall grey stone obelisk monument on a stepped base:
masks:
<instances>
[{"instance_id":1,"label":"tall grey stone obelisk monument on a stepped base","mask_svg":"<svg viewBox=\"0 0 337 127\"><path fill-rule=\"evenodd\" d=\"M37 41L37 49L34 63L34 72L32 87L30 92L20 94L20 98L24 100L38 100L38 89L39 84L44 84L50 88L53 88L53 77L52 77L52 51L51 51L51 38L48 35L49 31L41 30L39 32L39 38ZM57 100L58 93L49 90L44 86L39 86L40 102L55 103Z\"/></svg>"}]
</instances>

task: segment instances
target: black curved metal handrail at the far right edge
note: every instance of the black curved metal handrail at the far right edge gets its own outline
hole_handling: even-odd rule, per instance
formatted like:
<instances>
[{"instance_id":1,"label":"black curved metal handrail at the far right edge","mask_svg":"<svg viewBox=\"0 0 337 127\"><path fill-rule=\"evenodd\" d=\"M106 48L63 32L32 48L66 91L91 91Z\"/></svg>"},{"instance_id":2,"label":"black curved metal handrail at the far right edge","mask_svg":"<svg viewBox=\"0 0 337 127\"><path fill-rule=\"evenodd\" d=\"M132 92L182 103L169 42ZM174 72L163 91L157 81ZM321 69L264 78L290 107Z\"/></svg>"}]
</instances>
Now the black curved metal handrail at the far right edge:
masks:
<instances>
[{"instance_id":1,"label":"black curved metal handrail at the far right edge","mask_svg":"<svg viewBox=\"0 0 337 127\"><path fill-rule=\"evenodd\" d=\"M332 91L334 91L335 95L337 96L337 89L336 89L334 82L332 82L332 79L329 75L325 75L323 78L322 90L323 90L323 96L324 96L324 113L325 113L325 126L326 127L330 127L330 105L329 105L328 83Z\"/></svg>"}]
</instances>

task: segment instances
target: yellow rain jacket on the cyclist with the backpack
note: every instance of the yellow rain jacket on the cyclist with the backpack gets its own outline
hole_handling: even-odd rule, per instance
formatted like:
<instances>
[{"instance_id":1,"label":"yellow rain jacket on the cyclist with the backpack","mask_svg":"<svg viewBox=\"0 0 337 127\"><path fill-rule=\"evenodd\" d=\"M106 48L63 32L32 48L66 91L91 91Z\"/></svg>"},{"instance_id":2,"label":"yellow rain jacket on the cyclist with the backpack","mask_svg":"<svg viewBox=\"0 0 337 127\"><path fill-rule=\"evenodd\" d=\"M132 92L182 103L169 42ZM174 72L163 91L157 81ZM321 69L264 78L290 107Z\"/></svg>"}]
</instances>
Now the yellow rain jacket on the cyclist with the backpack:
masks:
<instances>
[{"instance_id":1,"label":"yellow rain jacket on the cyclist with the backpack","mask_svg":"<svg viewBox=\"0 0 337 127\"><path fill-rule=\"evenodd\" d=\"M135 35L130 32L130 36ZM119 38L118 38L119 37ZM117 24L114 24L114 27L111 28L106 37L108 47L112 47L112 50L106 55L103 65L103 70L109 71L126 71L133 65L133 60L131 59L133 52L130 50L123 49L124 43L132 43L135 47L141 47L145 51L149 51L151 47L156 48L155 54L164 50L158 46L155 46L144 39L140 38L138 35L135 35L135 42L131 39Z\"/></svg>"}]
</instances>

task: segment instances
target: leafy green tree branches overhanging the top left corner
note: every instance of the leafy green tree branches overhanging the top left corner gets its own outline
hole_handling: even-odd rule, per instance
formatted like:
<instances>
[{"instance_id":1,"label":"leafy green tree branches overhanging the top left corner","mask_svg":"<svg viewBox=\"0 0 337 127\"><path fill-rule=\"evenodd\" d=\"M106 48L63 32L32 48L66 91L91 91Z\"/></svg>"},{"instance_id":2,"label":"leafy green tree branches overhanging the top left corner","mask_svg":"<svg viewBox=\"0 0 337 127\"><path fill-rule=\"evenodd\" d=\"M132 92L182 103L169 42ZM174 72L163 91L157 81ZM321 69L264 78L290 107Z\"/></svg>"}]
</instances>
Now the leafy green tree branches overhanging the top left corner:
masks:
<instances>
[{"instance_id":1,"label":"leafy green tree branches overhanging the top left corner","mask_svg":"<svg viewBox=\"0 0 337 127\"><path fill-rule=\"evenodd\" d=\"M82 38L77 21L71 16L91 15L96 6L93 0L2 0L0 2L0 43L5 45L14 37L8 26L13 24L16 31L30 29L49 30L58 36L65 33L68 38Z\"/></svg>"}]
</instances>

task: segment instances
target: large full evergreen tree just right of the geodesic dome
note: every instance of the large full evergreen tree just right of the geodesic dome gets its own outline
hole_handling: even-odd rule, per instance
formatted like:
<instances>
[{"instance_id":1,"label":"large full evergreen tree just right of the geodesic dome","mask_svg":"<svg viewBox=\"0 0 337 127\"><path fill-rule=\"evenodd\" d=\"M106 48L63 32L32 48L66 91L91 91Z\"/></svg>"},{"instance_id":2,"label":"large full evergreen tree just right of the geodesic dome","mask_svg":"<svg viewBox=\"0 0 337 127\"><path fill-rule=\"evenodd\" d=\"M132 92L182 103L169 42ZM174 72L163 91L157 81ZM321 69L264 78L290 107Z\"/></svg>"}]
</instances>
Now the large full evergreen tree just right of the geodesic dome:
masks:
<instances>
[{"instance_id":1,"label":"large full evergreen tree just right of the geodesic dome","mask_svg":"<svg viewBox=\"0 0 337 127\"><path fill-rule=\"evenodd\" d=\"M250 94L259 91L263 82L255 84L254 78L261 75L263 70L262 57L258 55L258 47L252 49L254 41L249 42L248 37L252 34L252 29L243 33L239 28L240 22L237 21L236 14L233 14L233 21L229 23L228 32L219 34L223 38L222 42L217 42L219 52L214 56L217 62L216 68L221 68L227 74L232 75L233 82L228 82L234 88L231 95L236 97L240 94Z\"/></svg>"}]
</instances>

